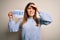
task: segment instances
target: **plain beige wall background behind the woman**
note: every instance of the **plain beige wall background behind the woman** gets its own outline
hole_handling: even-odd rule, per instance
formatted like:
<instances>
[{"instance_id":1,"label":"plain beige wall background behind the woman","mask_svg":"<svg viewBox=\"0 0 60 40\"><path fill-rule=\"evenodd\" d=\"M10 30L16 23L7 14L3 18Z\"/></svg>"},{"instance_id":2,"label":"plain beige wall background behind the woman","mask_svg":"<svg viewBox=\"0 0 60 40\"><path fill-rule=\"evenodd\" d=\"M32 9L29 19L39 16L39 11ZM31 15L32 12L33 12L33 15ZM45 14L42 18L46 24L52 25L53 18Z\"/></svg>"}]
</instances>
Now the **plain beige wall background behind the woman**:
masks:
<instances>
[{"instance_id":1,"label":"plain beige wall background behind the woman","mask_svg":"<svg viewBox=\"0 0 60 40\"><path fill-rule=\"evenodd\" d=\"M60 0L0 0L0 40L20 40L20 32L8 30L8 12L15 9L24 10L29 2L34 2L41 11L48 12L53 22L41 26L42 40L60 40Z\"/></svg>"}]
</instances>

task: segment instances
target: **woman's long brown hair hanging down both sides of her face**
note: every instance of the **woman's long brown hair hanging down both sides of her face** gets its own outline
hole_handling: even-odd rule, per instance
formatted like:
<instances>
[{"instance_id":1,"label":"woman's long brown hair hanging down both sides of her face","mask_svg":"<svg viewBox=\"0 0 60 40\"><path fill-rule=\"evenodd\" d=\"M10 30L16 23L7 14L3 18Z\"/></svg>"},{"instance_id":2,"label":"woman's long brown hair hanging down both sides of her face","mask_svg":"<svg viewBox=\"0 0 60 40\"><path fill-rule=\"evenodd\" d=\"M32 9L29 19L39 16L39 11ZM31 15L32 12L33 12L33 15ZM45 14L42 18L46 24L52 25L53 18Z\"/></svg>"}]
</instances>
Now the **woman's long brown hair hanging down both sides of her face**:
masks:
<instances>
[{"instance_id":1,"label":"woman's long brown hair hanging down both sides of her face","mask_svg":"<svg viewBox=\"0 0 60 40\"><path fill-rule=\"evenodd\" d=\"M27 22L27 19L29 18L29 15L28 15L28 12L27 12L27 8L28 8L31 4L35 5L35 4L32 3L32 2L30 2L30 3L27 4L27 6L25 7L25 10L24 10L24 18L23 18L23 21L22 21L22 23L20 24L20 26L22 26L25 22ZM35 9L35 14L34 14L34 16L33 16L33 19L35 20L35 22L36 22L36 24L37 24L37 26L38 26L38 25L39 25L39 21L38 21L38 18L37 18L37 16L36 16L36 11L37 11L37 9L36 9L36 8L34 8L34 9Z\"/></svg>"}]
</instances>

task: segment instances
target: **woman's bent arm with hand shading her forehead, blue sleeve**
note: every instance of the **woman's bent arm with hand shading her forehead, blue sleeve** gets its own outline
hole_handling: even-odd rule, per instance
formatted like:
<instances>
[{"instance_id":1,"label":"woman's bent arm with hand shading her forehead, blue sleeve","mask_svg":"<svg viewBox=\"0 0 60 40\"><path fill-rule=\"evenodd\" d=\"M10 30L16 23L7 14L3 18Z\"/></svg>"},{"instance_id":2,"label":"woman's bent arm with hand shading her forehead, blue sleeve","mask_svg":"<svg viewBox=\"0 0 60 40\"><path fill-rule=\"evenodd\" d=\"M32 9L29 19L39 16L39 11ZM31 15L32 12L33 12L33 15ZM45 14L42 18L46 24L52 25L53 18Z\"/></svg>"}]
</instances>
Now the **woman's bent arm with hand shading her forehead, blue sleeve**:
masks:
<instances>
[{"instance_id":1,"label":"woman's bent arm with hand shading her forehead, blue sleeve","mask_svg":"<svg viewBox=\"0 0 60 40\"><path fill-rule=\"evenodd\" d=\"M44 12L39 12L39 9L36 5L32 5L32 6L36 8L37 15L38 14L40 15L40 16L37 16L37 18L39 19L41 25L42 24L48 25L52 22L50 15L48 15L47 13L44 13Z\"/></svg>"}]
</instances>

